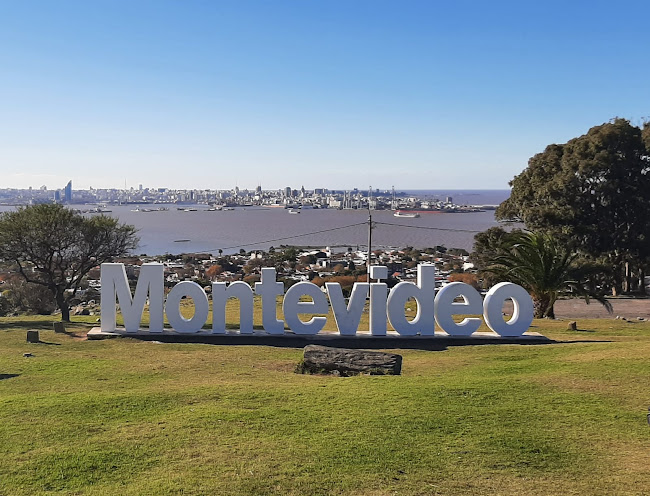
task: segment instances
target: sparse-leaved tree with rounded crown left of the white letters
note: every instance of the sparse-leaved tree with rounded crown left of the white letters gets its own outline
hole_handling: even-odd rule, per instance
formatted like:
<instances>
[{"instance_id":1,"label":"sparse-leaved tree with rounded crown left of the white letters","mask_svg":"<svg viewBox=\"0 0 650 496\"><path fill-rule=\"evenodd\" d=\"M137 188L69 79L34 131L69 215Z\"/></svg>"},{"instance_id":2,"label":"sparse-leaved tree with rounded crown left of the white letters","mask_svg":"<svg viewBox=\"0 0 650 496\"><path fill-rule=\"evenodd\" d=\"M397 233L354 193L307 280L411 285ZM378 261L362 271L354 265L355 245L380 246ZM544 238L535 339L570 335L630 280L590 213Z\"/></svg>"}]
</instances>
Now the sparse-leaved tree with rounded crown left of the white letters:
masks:
<instances>
[{"instance_id":1,"label":"sparse-leaved tree with rounded crown left of the white letters","mask_svg":"<svg viewBox=\"0 0 650 496\"><path fill-rule=\"evenodd\" d=\"M133 226L104 215L86 218L62 205L20 207L0 215L0 257L15 263L28 283L47 288L66 322L84 276L137 244Z\"/></svg>"}]
</instances>

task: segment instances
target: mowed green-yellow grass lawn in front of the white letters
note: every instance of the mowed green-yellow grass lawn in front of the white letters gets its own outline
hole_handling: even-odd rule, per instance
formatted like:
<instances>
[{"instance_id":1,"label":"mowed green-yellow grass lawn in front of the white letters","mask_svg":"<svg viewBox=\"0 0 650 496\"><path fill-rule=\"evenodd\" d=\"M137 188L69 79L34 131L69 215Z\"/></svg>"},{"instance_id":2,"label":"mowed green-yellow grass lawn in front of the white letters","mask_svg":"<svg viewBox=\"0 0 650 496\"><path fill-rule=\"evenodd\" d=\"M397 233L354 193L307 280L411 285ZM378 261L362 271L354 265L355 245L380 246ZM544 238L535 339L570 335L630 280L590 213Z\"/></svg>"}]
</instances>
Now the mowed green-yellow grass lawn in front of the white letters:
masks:
<instances>
[{"instance_id":1,"label":"mowed green-yellow grass lawn in front of the white letters","mask_svg":"<svg viewBox=\"0 0 650 496\"><path fill-rule=\"evenodd\" d=\"M54 320L0 319L0 495L650 494L648 322L535 321L553 344L341 378L295 374L302 349Z\"/></svg>"}]
</instances>

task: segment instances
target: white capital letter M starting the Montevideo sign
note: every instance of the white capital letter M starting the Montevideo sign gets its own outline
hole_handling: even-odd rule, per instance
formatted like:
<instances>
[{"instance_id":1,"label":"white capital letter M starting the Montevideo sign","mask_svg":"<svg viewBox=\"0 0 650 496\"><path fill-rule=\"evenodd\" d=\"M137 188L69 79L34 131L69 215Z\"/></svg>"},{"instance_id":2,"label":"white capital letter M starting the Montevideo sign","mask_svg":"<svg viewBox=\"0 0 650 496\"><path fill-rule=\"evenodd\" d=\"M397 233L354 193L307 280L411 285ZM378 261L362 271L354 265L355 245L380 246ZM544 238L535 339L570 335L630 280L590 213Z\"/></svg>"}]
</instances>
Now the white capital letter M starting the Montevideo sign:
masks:
<instances>
[{"instance_id":1,"label":"white capital letter M starting the Montevideo sign","mask_svg":"<svg viewBox=\"0 0 650 496\"><path fill-rule=\"evenodd\" d=\"M147 302L147 294L149 294L149 332L162 332L164 283L165 274L162 264L143 264L140 267L135 295L132 296L124 264L102 264L102 331L115 330L115 297L117 296L126 332L138 332L144 305Z\"/></svg>"}]
</instances>

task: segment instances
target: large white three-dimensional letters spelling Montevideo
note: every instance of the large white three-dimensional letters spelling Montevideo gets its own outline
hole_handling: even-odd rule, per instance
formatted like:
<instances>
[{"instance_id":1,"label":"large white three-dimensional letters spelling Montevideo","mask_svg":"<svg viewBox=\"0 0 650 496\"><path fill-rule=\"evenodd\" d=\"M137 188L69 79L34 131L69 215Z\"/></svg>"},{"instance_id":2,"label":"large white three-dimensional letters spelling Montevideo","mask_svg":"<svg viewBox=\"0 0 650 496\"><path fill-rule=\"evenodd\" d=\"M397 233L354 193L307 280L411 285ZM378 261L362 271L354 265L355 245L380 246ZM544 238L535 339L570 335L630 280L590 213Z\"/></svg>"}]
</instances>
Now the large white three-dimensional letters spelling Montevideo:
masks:
<instances>
[{"instance_id":1,"label":"large white three-dimensional letters spelling Montevideo","mask_svg":"<svg viewBox=\"0 0 650 496\"><path fill-rule=\"evenodd\" d=\"M472 286L460 282L436 290L436 269L433 265L418 266L416 283L400 282L390 290L381 282L387 278L387 274L386 267L371 267L371 278L379 282L355 283L347 302L338 283L325 284L327 295L310 282L296 283L285 293L284 285L276 279L274 268L263 268L261 281L255 283L254 288L241 281L230 284L215 282L212 283L212 327L206 330L204 326L208 320L209 301L197 283L180 282L165 299L163 265L147 263L140 268L135 293L132 294L124 265L105 263L101 266L101 331L116 331L117 302L126 333L225 334L226 303L229 298L236 298L240 306L238 332L242 335L253 334L253 302L256 295L262 304L262 327L269 335L284 334L285 323L293 334L318 334L327 323L325 315L331 306L339 335L355 336L367 299L370 300L368 331L373 336L386 336L389 323L401 336L434 337L436 330L450 336L471 336L484 320L496 334L517 337L528 330L533 320L530 295L516 284L497 284L483 299ZM282 297L283 320L276 315L278 297ZM183 298L191 298L194 302L194 313L189 319L183 317L180 311ZM147 299L149 327L142 329L142 314ZM417 313L409 320L404 309L411 299L417 304ZM506 300L512 300L514 305L513 315L507 321L502 314ZM303 320L301 314L311 317ZM481 314L483 319L474 317ZM164 329L165 316L172 327L171 331ZM456 322L454 316L466 317Z\"/></svg>"}]
</instances>

